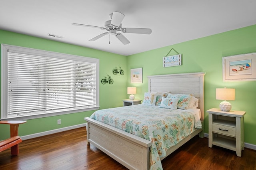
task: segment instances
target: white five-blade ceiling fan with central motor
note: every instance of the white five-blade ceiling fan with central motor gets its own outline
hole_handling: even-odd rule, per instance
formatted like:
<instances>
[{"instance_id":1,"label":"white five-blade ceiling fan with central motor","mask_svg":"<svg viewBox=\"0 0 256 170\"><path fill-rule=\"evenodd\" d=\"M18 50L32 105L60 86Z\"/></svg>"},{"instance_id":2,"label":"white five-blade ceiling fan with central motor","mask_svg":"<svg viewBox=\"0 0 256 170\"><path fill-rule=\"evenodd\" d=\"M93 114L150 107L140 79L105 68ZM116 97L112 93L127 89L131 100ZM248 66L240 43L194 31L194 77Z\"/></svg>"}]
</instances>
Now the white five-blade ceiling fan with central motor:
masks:
<instances>
[{"instance_id":1,"label":"white five-blade ceiling fan with central motor","mask_svg":"<svg viewBox=\"0 0 256 170\"><path fill-rule=\"evenodd\" d=\"M115 35L120 42L123 44L128 44L130 43L127 38L122 33L134 33L134 34L151 34L152 30L150 28L122 28L122 20L124 19L124 14L121 12L116 12L114 11L113 14L110 14L110 20L105 22L105 28L104 27L98 27L98 26L90 26L90 25L84 25L84 24L76 24L73 23L73 26L85 26L85 27L91 27L91 28L99 28L101 30L106 30L108 32L104 32L89 41L95 41L98 40L99 38L102 38L103 36L106 35ZM109 41L110 43L110 41Z\"/></svg>"}]
</instances>

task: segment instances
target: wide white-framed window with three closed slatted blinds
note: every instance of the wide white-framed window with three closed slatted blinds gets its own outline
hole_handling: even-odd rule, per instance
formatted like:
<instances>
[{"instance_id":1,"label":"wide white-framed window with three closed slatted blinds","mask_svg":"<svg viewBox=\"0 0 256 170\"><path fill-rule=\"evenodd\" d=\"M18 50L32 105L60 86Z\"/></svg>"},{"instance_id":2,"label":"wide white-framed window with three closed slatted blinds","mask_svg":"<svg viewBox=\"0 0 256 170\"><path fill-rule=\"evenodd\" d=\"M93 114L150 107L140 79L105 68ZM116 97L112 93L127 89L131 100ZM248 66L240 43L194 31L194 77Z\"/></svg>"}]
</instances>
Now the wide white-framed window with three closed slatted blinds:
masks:
<instances>
[{"instance_id":1,"label":"wide white-framed window with three closed slatted blinds","mask_svg":"<svg viewBox=\"0 0 256 170\"><path fill-rule=\"evenodd\" d=\"M99 107L99 59L2 44L1 119Z\"/></svg>"}]
</instances>

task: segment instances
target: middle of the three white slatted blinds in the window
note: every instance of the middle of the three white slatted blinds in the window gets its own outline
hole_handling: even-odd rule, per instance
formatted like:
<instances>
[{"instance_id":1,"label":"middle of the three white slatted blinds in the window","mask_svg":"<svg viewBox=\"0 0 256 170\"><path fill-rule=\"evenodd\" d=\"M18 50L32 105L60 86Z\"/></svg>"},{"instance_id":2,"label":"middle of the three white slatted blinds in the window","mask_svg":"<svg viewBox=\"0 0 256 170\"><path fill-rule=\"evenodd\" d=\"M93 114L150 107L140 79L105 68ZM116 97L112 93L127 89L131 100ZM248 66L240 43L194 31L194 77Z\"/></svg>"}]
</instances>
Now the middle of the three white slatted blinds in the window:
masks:
<instances>
[{"instance_id":1,"label":"middle of the three white slatted blinds in the window","mask_svg":"<svg viewBox=\"0 0 256 170\"><path fill-rule=\"evenodd\" d=\"M74 61L46 58L46 110L74 107Z\"/></svg>"}]
</instances>

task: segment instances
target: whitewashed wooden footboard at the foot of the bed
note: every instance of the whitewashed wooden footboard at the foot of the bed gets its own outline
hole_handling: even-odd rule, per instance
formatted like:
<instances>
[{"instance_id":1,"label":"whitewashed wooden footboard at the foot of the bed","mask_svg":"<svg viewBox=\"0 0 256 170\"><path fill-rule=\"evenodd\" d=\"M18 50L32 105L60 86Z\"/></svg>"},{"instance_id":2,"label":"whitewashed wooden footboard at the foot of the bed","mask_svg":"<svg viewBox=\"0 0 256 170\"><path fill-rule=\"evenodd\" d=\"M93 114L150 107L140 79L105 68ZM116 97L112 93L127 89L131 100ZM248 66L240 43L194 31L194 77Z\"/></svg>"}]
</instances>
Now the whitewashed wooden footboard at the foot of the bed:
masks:
<instances>
[{"instance_id":1,"label":"whitewashed wooden footboard at the foot of the bed","mask_svg":"<svg viewBox=\"0 0 256 170\"><path fill-rule=\"evenodd\" d=\"M93 144L128 169L148 170L151 142L88 117L87 144Z\"/></svg>"}]
</instances>

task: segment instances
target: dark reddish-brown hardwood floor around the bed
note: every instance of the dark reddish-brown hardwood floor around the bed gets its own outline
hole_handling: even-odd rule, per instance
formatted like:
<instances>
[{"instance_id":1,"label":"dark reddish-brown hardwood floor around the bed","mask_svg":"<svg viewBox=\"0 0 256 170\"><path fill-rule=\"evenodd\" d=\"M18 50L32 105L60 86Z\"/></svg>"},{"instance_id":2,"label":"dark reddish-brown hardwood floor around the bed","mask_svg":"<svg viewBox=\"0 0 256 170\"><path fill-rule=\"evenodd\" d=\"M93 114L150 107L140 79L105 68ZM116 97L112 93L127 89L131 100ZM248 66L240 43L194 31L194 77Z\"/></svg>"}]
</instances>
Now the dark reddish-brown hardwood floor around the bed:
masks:
<instances>
[{"instance_id":1,"label":"dark reddish-brown hardwood floor around the bed","mask_svg":"<svg viewBox=\"0 0 256 170\"><path fill-rule=\"evenodd\" d=\"M85 128L42 136L20 143L20 154L0 152L0 170L125 170L98 150L86 145ZM256 170L256 151L242 157L231 150L208 147L208 138L192 138L162 160L164 170Z\"/></svg>"}]
</instances>

